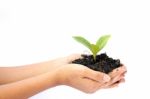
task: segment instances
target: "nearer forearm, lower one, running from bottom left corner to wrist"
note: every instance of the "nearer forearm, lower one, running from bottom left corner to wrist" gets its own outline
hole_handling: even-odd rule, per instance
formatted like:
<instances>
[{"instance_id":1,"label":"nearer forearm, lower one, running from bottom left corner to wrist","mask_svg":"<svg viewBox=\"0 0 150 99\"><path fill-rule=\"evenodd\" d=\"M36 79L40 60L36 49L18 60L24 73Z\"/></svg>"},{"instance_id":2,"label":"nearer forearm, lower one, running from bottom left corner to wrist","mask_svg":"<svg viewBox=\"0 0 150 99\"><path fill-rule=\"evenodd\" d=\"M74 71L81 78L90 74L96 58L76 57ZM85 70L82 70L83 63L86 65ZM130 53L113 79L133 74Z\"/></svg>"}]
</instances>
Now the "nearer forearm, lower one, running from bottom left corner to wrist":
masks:
<instances>
[{"instance_id":1,"label":"nearer forearm, lower one, running from bottom left corner to wrist","mask_svg":"<svg viewBox=\"0 0 150 99\"><path fill-rule=\"evenodd\" d=\"M47 88L56 86L56 72L45 73L15 83L0 86L0 99L26 99Z\"/></svg>"}]
</instances>

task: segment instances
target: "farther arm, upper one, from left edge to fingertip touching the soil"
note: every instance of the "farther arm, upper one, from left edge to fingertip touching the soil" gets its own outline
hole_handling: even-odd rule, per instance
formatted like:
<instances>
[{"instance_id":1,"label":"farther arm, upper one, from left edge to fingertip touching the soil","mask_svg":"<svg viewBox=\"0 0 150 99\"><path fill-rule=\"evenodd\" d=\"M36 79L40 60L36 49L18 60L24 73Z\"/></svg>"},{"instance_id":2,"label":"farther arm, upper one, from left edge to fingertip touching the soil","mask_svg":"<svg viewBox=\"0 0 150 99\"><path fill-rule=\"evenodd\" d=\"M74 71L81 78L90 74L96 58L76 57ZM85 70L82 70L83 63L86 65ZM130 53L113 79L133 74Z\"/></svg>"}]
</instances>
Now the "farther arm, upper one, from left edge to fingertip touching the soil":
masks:
<instances>
[{"instance_id":1,"label":"farther arm, upper one, from left edge to fingertip touching the soil","mask_svg":"<svg viewBox=\"0 0 150 99\"><path fill-rule=\"evenodd\" d=\"M55 69L58 69L65 64L69 64L71 61L80 57L80 54L72 54L66 57L23 66L0 66L0 85L54 71Z\"/></svg>"}]
</instances>

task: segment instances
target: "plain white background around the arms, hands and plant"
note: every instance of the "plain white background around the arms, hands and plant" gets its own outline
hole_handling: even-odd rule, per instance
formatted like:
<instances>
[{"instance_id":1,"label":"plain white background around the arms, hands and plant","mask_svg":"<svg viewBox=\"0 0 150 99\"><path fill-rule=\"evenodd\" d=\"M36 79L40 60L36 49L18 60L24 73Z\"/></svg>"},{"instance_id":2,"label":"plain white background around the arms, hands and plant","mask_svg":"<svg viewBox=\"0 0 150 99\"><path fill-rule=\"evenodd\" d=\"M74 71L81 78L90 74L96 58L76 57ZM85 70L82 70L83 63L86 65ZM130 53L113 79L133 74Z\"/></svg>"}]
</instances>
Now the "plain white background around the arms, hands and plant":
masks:
<instances>
[{"instance_id":1,"label":"plain white background around the arms, hands and plant","mask_svg":"<svg viewBox=\"0 0 150 99\"><path fill-rule=\"evenodd\" d=\"M149 99L149 33L149 0L0 0L0 66L83 53L73 35L95 42L111 34L102 52L128 68L118 88L88 95L58 86L30 99Z\"/></svg>"}]
</instances>

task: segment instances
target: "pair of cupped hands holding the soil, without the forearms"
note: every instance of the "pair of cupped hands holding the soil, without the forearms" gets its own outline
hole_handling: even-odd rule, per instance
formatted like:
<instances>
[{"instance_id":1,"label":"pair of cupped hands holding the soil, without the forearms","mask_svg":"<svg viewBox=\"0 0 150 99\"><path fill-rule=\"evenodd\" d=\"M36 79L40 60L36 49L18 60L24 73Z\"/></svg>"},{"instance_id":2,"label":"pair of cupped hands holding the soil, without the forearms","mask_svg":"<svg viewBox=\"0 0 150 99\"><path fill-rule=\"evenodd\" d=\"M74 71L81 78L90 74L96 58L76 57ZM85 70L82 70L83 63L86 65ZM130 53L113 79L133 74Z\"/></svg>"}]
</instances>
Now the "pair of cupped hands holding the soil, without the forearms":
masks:
<instances>
[{"instance_id":1,"label":"pair of cupped hands holding the soil, without the forearms","mask_svg":"<svg viewBox=\"0 0 150 99\"><path fill-rule=\"evenodd\" d=\"M58 85L67 85L86 93L93 93L98 89L113 88L125 82L124 76L127 71L125 66L105 74L83 65L71 64L78 58L81 58L81 55L73 54L53 61L58 66L56 69Z\"/></svg>"}]
</instances>

